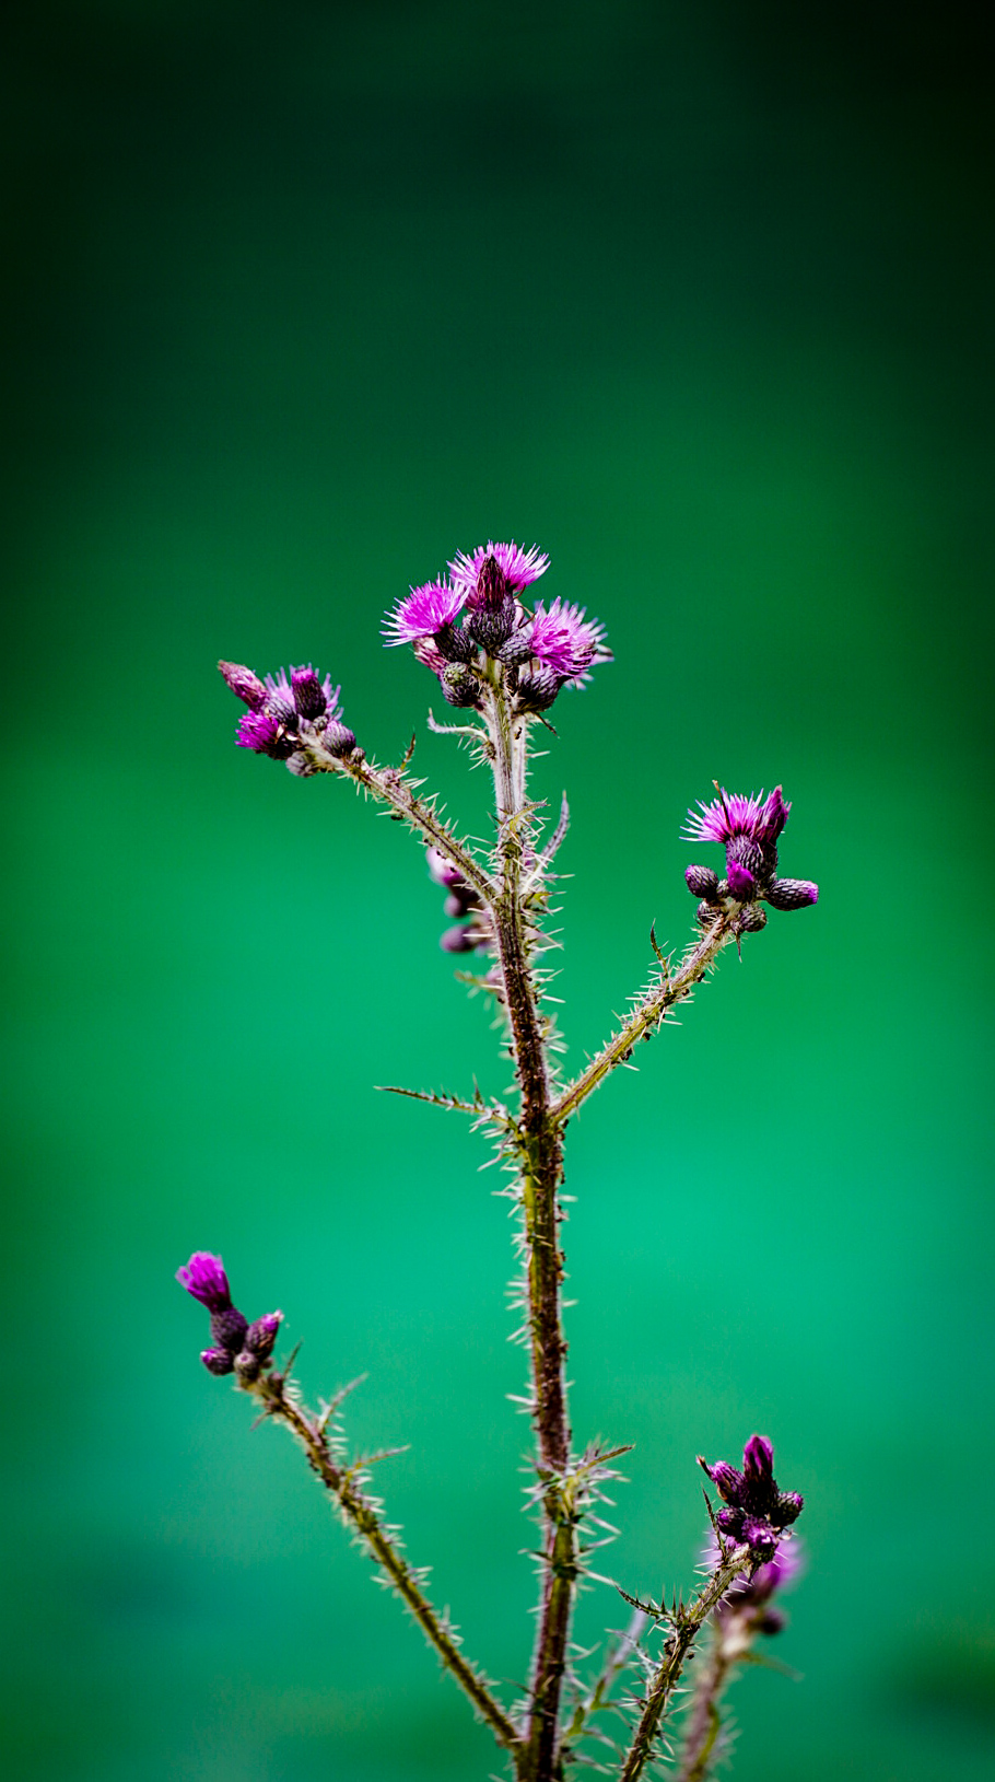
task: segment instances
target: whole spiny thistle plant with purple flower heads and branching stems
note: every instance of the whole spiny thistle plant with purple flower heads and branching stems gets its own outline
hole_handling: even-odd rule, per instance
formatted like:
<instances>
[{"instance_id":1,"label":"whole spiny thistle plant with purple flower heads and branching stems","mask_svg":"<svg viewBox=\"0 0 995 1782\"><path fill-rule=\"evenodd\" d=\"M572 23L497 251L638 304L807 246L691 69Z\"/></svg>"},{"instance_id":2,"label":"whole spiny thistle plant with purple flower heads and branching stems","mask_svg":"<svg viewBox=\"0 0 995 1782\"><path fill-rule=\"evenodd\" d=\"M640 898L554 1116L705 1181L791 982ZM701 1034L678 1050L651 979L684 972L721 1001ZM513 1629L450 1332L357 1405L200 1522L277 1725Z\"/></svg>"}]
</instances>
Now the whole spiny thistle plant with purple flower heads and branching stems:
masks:
<instances>
[{"instance_id":1,"label":"whole spiny thistle plant with purple flower heads and branching stems","mask_svg":"<svg viewBox=\"0 0 995 1782\"><path fill-rule=\"evenodd\" d=\"M294 1356L276 1358L283 1313L249 1320L233 1304L221 1258L206 1251L196 1251L178 1279L210 1313L210 1345L201 1354L208 1372L230 1374L262 1418L297 1438L342 1522L493 1732L509 1775L562 1782L586 1764L635 1782L680 1741L680 1777L691 1782L710 1773L726 1743L721 1716L732 1672L755 1659L755 1645L780 1625L771 1598L794 1566L790 1543L803 1500L778 1486L765 1436L748 1440L742 1468L701 1461L717 1508L707 1490L710 1545L698 1588L669 1602L641 1600L619 1588L630 1620L609 1641L595 1675L584 1673L591 1654L571 1643L573 1609L578 1590L593 1582L593 1552L611 1538L600 1509L628 1447L577 1445L570 1426L561 1297L564 1139L571 1114L630 1059L637 1041L650 1039L691 998L726 946L742 948L744 936L762 930L767 909L801 909L815 903L819 891L780 875L778 846L790 813L781 788L746 797L716 782L716 797L689 811L687 822L689 839L724 848L723 873L708 864L687 868L698 898L692 941L680 955L666 953L650 930L655 964L648 985L587 1066L570 1082L561 1078L543 955L568 807L564 800L550 822L546 805L529 797L529 750L536 731L552 729L548 713L561 693L582 690L611 652L603 625L580 606L534 601L530 590L546 570L548 558L536 547L489 542L459 552L438 581L411 588L384 624L386 643L409 647L459 716L440 723L429 715L431 729L468 745L475 764L493 775L488 848L463 839L424 795L411 775L413 745L397 766L377 764L360 747L329 675L320 677L311 665L265 677L237 663L219 665L246 707L237 732L242 748L281 761L299 777L352 781L425 846L429 875L445 891L441 946L475 955L477 969L459 977L493 1003L514 1060L511 1101L479 1089L468 1096L397 1092L466 1114L497 1148L506 1169L502 1192L516 1210L514 1303L529 1354L525 1408L534 1433L527 1495L541 1529L536 1634L522 1700L504 1702L465 1655L449 1614L429 1600L427 1572L409 1563L397 1529L384 1522L370 1490L372 1468L384 1456L352 1456L344 1431L342 1408L356 1381L310 1410L292 1377Z\"/></svg>"}]
</instances>

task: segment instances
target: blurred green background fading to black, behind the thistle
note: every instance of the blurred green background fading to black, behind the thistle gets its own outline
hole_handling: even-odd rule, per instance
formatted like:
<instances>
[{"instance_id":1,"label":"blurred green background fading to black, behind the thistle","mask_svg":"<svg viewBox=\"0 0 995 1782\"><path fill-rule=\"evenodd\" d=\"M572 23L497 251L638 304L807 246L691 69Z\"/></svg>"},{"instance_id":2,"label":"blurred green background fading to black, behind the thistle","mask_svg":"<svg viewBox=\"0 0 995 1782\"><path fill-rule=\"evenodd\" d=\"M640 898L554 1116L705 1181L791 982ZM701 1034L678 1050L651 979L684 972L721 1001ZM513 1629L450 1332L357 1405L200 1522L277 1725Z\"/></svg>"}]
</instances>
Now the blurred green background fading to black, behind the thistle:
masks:
<instances>
[{"instance_id":1,"label":"blurred green background fading to black, behind the thistle","mask_svg":"<svg viewBox=\"0 0 995 1782\"><path fill-rule=\"evenodd\" d=\"M983 9L4 9L2 1677L30 1782L472 1782L488 1736L173 1271L287 1312L488 1670L522 1679L500 1092L411 839L231 747L313 658L470 829L383 609L489 535L618 661L557 706L570 1062L680 944L685 805L783 781L774 918L573 1123L578 1436L630 1588L776 1442L810 1568L740 1782L991 1773L993 884ZM438 695L436 695L438 706ZM701 850L698 850L701 852ZM619 1625L609 1590L580 1638Z\"/></svg>"}]
</instances>

